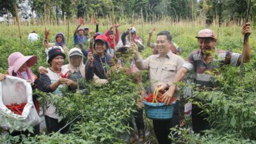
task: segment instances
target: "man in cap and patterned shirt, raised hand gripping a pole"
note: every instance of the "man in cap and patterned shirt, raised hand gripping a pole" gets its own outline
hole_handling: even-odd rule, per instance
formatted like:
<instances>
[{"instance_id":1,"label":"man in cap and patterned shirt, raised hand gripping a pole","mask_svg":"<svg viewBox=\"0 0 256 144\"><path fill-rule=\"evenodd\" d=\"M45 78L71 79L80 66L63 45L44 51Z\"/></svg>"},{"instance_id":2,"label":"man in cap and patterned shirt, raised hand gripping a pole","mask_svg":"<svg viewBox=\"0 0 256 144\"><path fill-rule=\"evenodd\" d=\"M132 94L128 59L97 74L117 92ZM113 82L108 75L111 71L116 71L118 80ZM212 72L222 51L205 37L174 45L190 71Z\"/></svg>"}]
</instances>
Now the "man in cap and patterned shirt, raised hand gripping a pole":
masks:
<instances>
[{"instance_id":1,"label":"man in cap and patterned shirt, raised hand gripping a pole","mask_svg":"<svg viewBox=\"0 0 256 144\"><path fill-rule=\"evenodd\" d=\"M246 23L243 26L242 34L250 35L251 33L252 30L250 23ZM238 66L241 63L242 58L243 62L245 63L250 61L251 48L248 39L246 40L244 54L242 56L241 54L237 54L235 52L221 51L220 49L217 49L215 47L217 39L215 37L214 31L211 29L203 29L199 31L196 38L198 39L200 49L189 54L186 62L175 75L173 82L181 81L185 74L191 71L194 72L194 82L197 84L198 88L200 88L200 90L209 91L212 90L211 88L214 88L214 84L211 81L211 79L214 77L209 74L209 72L206 74L205 71L214 73L218 72L216 70L223 67L224 65ZM167 103L170 98L173 97L175 88L175 84L170 84L169 90L163 95L164 103ZM201 113L202 110L202 108L199 108L195 104L192 105L192 125L193 131L195 133L210 129L209 122L205 120L205 118L208 116L205 115L205 113Z\"/></svg>"}]
</instances>

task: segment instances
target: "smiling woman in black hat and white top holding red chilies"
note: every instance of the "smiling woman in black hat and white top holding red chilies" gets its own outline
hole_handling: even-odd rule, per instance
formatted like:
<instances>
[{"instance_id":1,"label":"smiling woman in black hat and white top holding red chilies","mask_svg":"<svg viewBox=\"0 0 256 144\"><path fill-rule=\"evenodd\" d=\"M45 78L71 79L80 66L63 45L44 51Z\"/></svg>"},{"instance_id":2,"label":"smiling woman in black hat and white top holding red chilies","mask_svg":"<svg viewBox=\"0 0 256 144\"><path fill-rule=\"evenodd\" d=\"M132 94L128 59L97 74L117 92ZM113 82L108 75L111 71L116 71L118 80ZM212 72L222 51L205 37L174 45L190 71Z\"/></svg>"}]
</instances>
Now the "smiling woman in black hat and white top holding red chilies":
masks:
<instances>
[{"instance_id":1,"label":"smiling woman in black hat and white top holding red chilies","mask_svg":"<svg viewBox=\"0 0 256 144\"><path fill-rule=\"evenodd\" d=\"M71 79L67 79L68 69L62 68L64 64L64 59L66 55L59 48L52 48L48 52L49 59L47 62L50 64L50 67L47 68L47 74L41 74L41 84L44 92L52 93L57 97L61 97L60 88L63 86L70 86L70 88L77 88L77 83ZM59 131L64 125L65 120L58 122L59 115L56 113L56 108L51 102L44 106L44 116L45 124L47 127L47 132L51 133ZM66 129L62 129L61 133L66 132Z\"/></svg>"}]
</instances>

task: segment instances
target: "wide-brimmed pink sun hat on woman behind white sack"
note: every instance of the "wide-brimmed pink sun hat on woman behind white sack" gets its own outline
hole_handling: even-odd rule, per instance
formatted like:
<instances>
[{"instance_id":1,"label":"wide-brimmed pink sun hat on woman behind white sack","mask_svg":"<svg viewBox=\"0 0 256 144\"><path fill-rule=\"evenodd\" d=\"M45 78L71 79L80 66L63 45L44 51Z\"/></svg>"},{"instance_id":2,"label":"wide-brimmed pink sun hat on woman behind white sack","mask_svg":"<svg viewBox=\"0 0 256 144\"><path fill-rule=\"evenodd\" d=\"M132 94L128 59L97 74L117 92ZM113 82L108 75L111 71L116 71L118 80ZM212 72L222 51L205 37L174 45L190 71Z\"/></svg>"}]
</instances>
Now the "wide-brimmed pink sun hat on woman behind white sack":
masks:
<instances>
[{"instance_id":1,"label":"wide-brimmed pink sun hat on woman behind white sack","mask_svg":"<svg viewBox=\"0 0 256 144\"><path fill-rule=\"evenodd\" d=\"M12 72L17 72L19 68L27 62L28 67L32 67L35 65L37 61L36 56L24 56L20 52L13 52L10 54L8 57L8 63L9 63L9 68L8 68L8 73L12 74Z\"/></svg>"}]
</instances>

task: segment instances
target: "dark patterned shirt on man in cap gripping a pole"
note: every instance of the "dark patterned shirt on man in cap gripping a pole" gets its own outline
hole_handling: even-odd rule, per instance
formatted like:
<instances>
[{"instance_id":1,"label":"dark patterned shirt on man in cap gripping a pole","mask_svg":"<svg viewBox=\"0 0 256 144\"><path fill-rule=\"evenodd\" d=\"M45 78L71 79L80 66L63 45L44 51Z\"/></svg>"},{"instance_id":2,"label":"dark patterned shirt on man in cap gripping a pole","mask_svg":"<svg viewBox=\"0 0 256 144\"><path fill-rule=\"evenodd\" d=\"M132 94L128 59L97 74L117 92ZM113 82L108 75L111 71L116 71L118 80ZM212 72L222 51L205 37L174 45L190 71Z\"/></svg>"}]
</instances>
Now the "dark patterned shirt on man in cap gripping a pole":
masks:
<instances>
[{"instance_id":1,"label":"dark patterned shirt on man in cap gripping a pole","mask_svg":"<svg viewBox=\"0 0 256 144\"><path fill-rule=\"evenodd\" d=\"M193 70L194 83L200 84L200 87L206 86L213 88L214 84L212 80L214 77L212 74L219 74L218 70L223 67L223 65L238 66L240 64L240 56L241 54L235 52L216 49L213 60L209 64L206 64L203 53L199 49L189 54L189 57L182 67L187 68L189 71Z\"/></svg>"}]
</instances>

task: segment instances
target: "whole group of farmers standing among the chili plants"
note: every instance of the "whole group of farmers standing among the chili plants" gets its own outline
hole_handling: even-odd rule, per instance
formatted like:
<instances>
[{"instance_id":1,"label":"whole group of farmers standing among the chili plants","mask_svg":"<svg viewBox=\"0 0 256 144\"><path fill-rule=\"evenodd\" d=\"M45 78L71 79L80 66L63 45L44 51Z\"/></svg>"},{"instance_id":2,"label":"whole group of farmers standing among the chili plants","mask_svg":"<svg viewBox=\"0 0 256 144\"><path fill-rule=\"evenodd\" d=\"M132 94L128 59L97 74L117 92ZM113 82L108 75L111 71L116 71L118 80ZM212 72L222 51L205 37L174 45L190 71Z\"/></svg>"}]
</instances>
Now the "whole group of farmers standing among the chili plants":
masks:
<instances>
[{"instance_id":1,"label":"whole group of farmers standing among the chili plants","mask_svg":"<svg viewBox=\"0 0 256 144\"><path fill-rule=\"evenodd\" d=\"M211 90L211 88L214 88L214 83L212 83L214 77L210 73L205 73L205 71L214 72L214 70L224 67L224 65L239 66L241 63L250 61L251 58L248 38L245 41L242 55L218 49L214 31L202 29L196 36L199 49L191 52L188 58L184 60L179 56L181 49L172 42L172 35L169 31L157 33L156 42L151 43L150 38L153 34L153 29L149 32L147 46L153 48L154 51L151 56L143 60L140 52L145 49L145 46L140 36L136 35L136 28L128 28L119 39L118 24L111 26L104 34L99 32L98 23L96 24L96 33L93 33L92 30L89 31L87 27L81 27L81 25L82 22L79 20L79 25L74 31L74 44L76 47L69 51L65 45L65 35L63 33L57 33L55 42L49 43L49 31L45 30L44 47L49 67L38 67L40 81L31 71L31 67L35 65L37 57L24 56L20 52L13 52L8 57L9 68L7 75L26 79L33 90L37 88L43 92L54 93L61 97L60 88L63 86L68 86L70 90L83 89L83 84L79 84L81 83L80 79L95 81L98 86L104 86L109 81L108 73L111 72L109 67L113 67L111 61L116 60L115 52L121 49L132 49L134 54L133 60L131 60L132 74L140 74L140 70L148 70L150 93L154 93L156 88L163 92L164 104L169 104L172 97L176 99L175 104L173 104L172 118L168 120L152 120L159 144L172 143L172 140L168 139L168 135L171 132L170 128L180 124L180 92L176 82L182 81L186 73L193 72L196 86L200 90ZM242 35L250 35L251 33L250 23L246 23L242 28ZM88 45L88 50L84 49L85 45ZM68 64L64 65L66 57L68 58ZM86 61L83 62L83 60ZM119 67L124 67L122 60L116 61L118 61ZM214 61L219 63L216 64ZM0 74L0 81L5 78L6 75ZM141 83L141 78L138 77L134 83ZM35 106L37 105L35 104ZM56 113L54 105L49 103L43 108L47 132L51 133L60 130L63 133L66 132L68 127L61 129L66 122L65 120L58 122L59 115ZM204 130L210 129L207 115L202 113L201 108L193 104L191 111L193 131L195 133L203 134ZM138 128L138 142L143 143L145 138L143 108L138 109L134 118ZM34 127L34 129L38 129L38 127ZM131 136L131 142L134 142L135 139L136 137Z\"/></svg>"}]
</instances>

